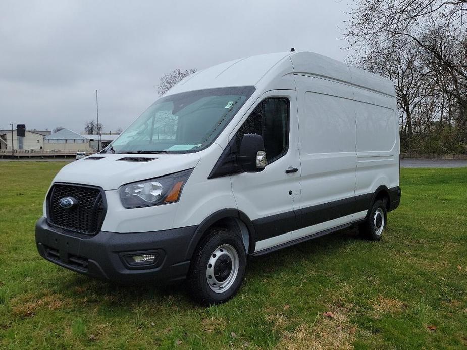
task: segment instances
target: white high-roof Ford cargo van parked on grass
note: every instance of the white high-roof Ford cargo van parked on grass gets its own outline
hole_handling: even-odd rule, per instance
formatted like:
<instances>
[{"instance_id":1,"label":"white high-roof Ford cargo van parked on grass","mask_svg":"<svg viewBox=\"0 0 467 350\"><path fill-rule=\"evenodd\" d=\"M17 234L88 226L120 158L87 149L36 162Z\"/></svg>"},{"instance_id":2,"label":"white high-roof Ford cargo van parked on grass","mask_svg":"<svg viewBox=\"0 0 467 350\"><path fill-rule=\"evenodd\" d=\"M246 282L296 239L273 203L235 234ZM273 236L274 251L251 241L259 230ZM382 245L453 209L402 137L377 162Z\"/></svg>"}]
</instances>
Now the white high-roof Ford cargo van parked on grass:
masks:
<instances>
[{"instance_id":1,"label":"white high-roof Ford cargo van parked on grass","mask_svg":"<svg viewBox=\"0 0 467 350\"><path fill-rule=\"evenodd\" d=\"M185 78L100 154L65 166L36 243L96 278L187 279L215 304L237 292L248 256L352 224L378 240L399 200L392 82L274 53Z\"/></svg>"}]
</instances>

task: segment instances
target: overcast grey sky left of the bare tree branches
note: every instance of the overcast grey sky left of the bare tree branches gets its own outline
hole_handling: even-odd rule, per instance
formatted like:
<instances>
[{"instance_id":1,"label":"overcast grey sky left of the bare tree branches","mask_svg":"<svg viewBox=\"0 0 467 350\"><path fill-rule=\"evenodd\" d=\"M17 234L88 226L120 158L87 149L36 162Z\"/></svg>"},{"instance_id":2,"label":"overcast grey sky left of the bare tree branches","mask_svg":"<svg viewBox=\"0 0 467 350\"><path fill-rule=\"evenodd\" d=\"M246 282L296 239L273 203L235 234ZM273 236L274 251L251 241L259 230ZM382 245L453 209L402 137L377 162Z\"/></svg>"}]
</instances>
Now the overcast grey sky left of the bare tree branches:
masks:
<instances>
[{"instance_id":1,"label":"overcast grey sky left of the bare tree branches","mask_svg":"<svg viewBox=\"0 0 467 350\"><path fill-rule=\"evenodd\" d=\"M125 128L160 77L296 50L344 60L348 0L0 2L0 129Z\"/></svg>"}]
</instances>

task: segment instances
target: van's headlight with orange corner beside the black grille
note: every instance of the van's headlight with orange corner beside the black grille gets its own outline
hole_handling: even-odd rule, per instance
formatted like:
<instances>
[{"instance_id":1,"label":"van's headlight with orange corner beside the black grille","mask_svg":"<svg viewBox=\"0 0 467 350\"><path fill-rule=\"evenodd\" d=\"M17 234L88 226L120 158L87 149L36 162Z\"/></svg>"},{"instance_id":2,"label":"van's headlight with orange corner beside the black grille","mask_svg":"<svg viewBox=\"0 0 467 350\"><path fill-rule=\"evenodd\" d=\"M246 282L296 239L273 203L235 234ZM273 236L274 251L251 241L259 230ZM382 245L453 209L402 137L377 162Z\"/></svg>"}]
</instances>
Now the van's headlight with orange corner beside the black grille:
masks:
<instances>
[{"instance_id":1,"label":"van's headlight with orange corner beside the black grille","mask_svg":"<svg viewBox=\"0 0 467 350\"><path fill-rule=\"evenodd\" d=\"M178 202L192 170L123 185L120 188L122 205L128 209Z\"/></svg>"}]
</instances>

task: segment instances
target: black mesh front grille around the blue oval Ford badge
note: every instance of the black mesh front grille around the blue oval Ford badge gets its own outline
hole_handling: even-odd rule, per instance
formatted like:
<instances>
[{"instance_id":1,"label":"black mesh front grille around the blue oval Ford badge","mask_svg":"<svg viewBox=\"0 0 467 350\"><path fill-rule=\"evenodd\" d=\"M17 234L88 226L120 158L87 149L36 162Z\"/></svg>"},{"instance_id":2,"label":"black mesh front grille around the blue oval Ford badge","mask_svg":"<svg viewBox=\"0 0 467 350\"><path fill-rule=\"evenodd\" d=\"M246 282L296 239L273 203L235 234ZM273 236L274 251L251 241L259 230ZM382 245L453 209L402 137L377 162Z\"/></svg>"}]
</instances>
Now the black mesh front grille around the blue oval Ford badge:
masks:
<instances>
[{"instance_id":1,"label":"black mesh front grille around the blue oval Ford badge","mask_svg":"<svg viewBox=\"0 0 467 350\"><path fill-rule=\"evenodd\" d=\"M63 208L64 197L78 201L76 207ZM49 223L61 228L96 234L106 215L106 202L102 189L84 185L54 184L47 200Z\"/></svg>"}]
</instances>

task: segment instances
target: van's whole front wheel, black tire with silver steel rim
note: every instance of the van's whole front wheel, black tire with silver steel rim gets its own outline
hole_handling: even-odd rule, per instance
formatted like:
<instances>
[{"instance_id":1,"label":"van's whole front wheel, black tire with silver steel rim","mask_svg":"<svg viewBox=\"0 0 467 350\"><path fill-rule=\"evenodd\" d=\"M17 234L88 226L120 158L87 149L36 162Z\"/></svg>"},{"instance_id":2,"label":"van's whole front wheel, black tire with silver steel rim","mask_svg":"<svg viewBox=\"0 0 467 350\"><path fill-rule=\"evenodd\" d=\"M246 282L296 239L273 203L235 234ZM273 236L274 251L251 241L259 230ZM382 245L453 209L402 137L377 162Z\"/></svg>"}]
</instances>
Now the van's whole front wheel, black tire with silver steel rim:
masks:
<instances>
[{"instance_id":1,"label":"van's whole front wheel, black tire with silver steel rim","mask_svg":"<svg viewBox=\"0 0 467 350\"><path fill-rule=\"evenodd\" d=\"M224 303L240 289L245 269L241 237L226 228L213 228L193 254L187 277L189 294L202 305Z\"/></svg>"}]
</instances>

